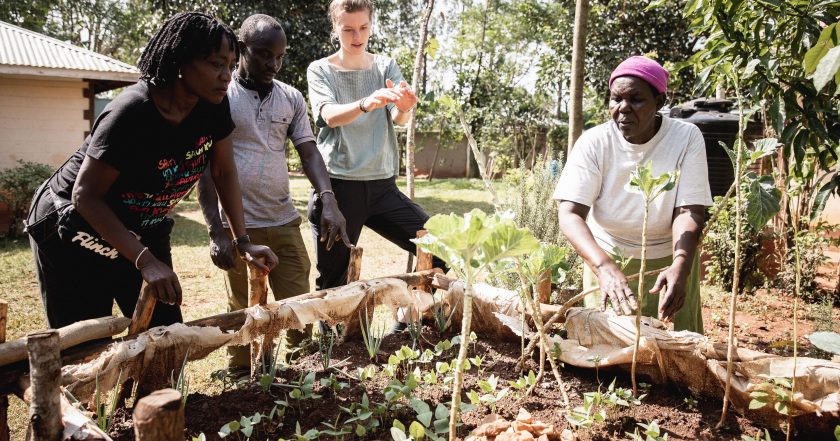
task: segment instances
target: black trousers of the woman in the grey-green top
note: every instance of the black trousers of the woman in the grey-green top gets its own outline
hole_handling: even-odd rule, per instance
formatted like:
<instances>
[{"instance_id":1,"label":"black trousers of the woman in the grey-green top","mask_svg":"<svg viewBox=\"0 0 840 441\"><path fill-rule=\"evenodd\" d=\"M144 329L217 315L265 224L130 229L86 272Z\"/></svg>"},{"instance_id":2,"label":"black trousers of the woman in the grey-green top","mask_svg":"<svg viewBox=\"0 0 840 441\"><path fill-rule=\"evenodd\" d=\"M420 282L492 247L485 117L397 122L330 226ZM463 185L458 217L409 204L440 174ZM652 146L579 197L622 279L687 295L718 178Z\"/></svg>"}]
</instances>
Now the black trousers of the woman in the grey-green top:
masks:
<instances>
[{"instance_id":1,"label":"black trousers of the woman in the grey-green top","mask_svg":"<svg viewBox=\"0 0 840 441\"><path fill-rule=\"evenodd\" d=\"M417 231L423 229L429 215L400 192L395 178L373 181L331 178L330 182L338 208L347 220L347 235L353 244L359 242L362 227L368 227L400 248L415 253L417 247L411 239L417 237ZM347 265L350 263L347 247L338 243L327 251L326 243L318 239L321 235L321 209L321 201L313 191L309 198L308 217L316 248L316 289L346 284ZM445 264L438 258L434 258L432 264L445 270Z\"/></svg>"}]
</instances>

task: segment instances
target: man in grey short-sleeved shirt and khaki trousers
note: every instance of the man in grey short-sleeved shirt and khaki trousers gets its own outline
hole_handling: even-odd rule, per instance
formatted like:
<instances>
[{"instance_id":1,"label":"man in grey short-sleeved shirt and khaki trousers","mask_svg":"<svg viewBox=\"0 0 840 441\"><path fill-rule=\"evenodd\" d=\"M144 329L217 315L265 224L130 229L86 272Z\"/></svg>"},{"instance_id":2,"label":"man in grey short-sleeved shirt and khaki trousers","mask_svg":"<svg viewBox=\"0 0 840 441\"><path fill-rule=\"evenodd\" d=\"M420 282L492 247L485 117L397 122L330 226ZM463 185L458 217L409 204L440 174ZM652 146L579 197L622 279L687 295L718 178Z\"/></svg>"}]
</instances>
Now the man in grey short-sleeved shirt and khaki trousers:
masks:
<instances>
[{"instance_id":1,"label":"man in grey short-sleeved shirt and khaki trousers","mask_svg":"<svg viewBox=\"0 0 840 441\"><path fill-rule=\"evenodd\" d=\"M300 234L301 218L292 205L286 163L286 140L300 154L303 171L323 202L322 242L327 247L341 240L350 246L344 216L338 209L330 179L306 114L306 101L294 87L274 79L286 54L286 35L274 18L255 14L239 31L239 68L228 86L231 116L236 128L233 153L242 187L245 227L253 243L269 246L279 264L269 273L275 299L309 292L309 256ZM248 306L245 264L235 259L232 239L220 216L209 175L198 184L199 202L210 232L213 263L226 270L230 311ZM299 331L288 331L286 343L297 345ZM249 367L247 347L231 347L229 367Z\"/></svg>"}]
</instances>

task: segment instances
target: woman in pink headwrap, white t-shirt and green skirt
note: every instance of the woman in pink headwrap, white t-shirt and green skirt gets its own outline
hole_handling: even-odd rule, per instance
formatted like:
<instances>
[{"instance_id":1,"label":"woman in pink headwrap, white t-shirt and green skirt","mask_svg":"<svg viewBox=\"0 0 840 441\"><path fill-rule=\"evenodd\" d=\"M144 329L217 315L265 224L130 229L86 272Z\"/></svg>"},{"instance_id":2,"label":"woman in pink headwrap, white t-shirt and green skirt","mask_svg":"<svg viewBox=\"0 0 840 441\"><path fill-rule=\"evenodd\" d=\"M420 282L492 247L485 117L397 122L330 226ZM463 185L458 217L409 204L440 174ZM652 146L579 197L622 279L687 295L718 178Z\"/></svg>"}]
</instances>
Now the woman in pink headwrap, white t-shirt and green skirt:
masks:
<instances>
[{"instance_id":1,"label":"woman in pink headwrap, white t-shirt and green skirt","mask_svg":"<svg viewBox=\"0 0 840 441\"><path fill-rule=\"evenodd\" d=\"M672 321L675 330L703 332L697 244L705 207L712 204L706 149L700 130L659 113L668 71L650 58L624 60L610 75L611 121L587 130L569 154L554 199L560 229L586 262L584 289L601 287L587 307L618 314L639 306L625 274L638 273L644 201L626 189L637 165L652 162L654 175L679 170L677 186L650 207L648 278L642 314ZM618 255L630 258L620 268Z\"/></svg>"}]
</instances>

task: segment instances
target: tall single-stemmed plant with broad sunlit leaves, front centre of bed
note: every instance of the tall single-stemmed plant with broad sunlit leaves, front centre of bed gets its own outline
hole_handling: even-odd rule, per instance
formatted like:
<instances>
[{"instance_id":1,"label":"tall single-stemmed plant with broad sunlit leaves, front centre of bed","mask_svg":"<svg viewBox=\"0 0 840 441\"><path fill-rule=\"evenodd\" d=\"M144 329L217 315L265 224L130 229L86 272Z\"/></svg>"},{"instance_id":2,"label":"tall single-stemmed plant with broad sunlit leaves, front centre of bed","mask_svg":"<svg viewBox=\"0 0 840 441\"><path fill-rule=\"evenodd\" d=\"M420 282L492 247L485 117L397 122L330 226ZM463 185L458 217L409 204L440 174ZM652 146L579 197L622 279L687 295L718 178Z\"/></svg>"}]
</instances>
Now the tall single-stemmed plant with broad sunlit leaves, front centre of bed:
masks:
<instances>
[{"instance_id":1,"label":"tall single-stemmed plant with broad sunlit leaves, front centre of bed","mask_svg":"<svg viewBox=\"0 0 840 441\"><path fill-rule=\"evenodd\" d=\"M461 319L461 347L455 364L452 385L452 406L449 416L449 437L456 438L455 428L461 402L462 367L467 357L472 319L473 284L490 265L512 259L538 248L533 235L518 228L509 214L488 216L474 209L463 217L436 215L426 222L429 234L413 239L424 251L438 256L464 280L463 315Z\"/></svg>"}]
</instances>

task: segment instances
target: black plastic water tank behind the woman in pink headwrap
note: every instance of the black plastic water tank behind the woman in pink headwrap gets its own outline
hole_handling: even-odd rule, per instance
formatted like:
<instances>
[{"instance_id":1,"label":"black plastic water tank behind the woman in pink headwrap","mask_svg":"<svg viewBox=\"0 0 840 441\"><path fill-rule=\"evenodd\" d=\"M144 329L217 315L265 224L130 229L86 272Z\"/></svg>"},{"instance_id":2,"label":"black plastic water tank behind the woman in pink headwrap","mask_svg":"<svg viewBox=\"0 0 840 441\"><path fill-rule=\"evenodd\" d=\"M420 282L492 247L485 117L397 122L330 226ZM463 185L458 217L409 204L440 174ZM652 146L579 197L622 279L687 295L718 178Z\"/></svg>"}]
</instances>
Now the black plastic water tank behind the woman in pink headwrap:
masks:
<instances>
[{"instance_id":1,"label":"black plastic water tank behind the woman in pink headwrap","mask_svg":"<svg viewBox=\"0 0 840 441\"><path fill-rule=\"evenodd\" d=\"M725 99L699 98L680 107L671 109L670 117L684 119L703 133L706 141L706 161L709 164L709 186L712 197L723 196L735 180L735 170L726 152L720 146L723 141L729 148L738 136L738 115L730 113L734 102ZM750 120L747 124L748 141L761 137L763 126Z\"/></svg>"}]
</instances>

